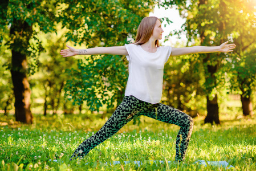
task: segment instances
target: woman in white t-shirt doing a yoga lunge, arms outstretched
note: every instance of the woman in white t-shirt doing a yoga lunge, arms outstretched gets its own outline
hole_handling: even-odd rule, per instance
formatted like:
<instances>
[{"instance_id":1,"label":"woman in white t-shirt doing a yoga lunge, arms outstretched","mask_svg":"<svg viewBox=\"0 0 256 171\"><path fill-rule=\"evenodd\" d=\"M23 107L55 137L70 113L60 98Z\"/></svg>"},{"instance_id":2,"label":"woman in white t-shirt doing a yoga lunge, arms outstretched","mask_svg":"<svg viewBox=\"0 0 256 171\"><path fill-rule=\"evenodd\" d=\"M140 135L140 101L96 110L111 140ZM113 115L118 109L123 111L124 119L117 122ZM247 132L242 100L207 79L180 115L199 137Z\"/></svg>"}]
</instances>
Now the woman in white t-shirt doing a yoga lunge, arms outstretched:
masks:
<instances>
[{"instance_id":1,"label":"woman in white t-shirt doing a yoga lunge, arms outstretched","mask_svg":"<svg viewBox=\"0 0 256 171\"><path fill-rule=\"evenodd\" d=\"M193 129L192 117L178 109L159 103L162 94L164 64L169 56L196 53L231 52L235 44L172 48L159 46L162 39L161 22L156 17L144 18L137 30L135 43L116 47L95 47L76 50L67 46L63 57L75 55L125 55L129 61L129 78L121 104L103 127L78 146L72 158L85 156L91 149L113 136L134 117L144 115L180 127L176 139L175 161L184 160Z\"/></svg>"}]
</instances>

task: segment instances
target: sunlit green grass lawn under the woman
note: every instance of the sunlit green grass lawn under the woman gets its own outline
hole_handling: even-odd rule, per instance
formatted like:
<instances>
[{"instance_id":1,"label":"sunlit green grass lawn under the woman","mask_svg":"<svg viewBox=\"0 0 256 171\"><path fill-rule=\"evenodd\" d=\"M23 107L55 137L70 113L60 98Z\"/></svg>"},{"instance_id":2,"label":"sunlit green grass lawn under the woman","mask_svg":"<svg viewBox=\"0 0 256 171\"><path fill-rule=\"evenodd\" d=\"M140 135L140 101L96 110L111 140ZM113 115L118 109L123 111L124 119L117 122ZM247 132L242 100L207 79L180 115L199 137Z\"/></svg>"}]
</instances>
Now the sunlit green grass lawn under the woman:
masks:
<instances>
[{"instance_id":1,"label":"sunlit green grass lawn under the woman","mask_svg":"<svg viewBox=\"0 0 256 171\"><path fill-rule=\"evenodd\" d=\"M96 115L35 116L34 124L24 125L13 116L0 119L1 170L226 170L193 164L197 160L227 161L235 170L256 170L256 121L254 118L227 120L222 125L202 125L194 119L194 129L184 162L180 164L105 165L111 161L173 161L179 127L141 117L116 135L96 146L82 160L70 161L74 149L95 133L105 120ZM58 162L49 160L58 159Z\"/></svg>"}]
</instances>

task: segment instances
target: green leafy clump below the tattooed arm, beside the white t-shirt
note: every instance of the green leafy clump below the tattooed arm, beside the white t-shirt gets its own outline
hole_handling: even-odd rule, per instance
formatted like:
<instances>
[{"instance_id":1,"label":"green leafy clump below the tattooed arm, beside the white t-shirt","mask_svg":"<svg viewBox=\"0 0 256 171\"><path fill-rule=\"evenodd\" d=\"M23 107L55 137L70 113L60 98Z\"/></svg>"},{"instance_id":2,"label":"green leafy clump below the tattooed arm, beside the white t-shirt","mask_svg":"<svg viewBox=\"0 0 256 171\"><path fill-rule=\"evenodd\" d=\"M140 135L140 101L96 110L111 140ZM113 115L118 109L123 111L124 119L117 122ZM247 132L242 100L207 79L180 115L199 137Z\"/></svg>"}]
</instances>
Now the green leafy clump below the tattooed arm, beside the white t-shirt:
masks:
<instances>
[{"instance_id":1,"label":"green leafy clump below the tattooed arm, beside the white t-shirt","mask_svg":"<svg viewBox=\"0 0 256 171\"><path fill-rule=\"evenodd\" d=\"M92 110L99 110L102 104L113 108L114 103L120 103L128 78L127 68L120 56L92 56L94 60L79 60L79 70L68 70L74 75L67 81L66 95L72 96L76 104L87 101ZM79 79L78 79L79 78Z\"/></svg>"}]
</instances>

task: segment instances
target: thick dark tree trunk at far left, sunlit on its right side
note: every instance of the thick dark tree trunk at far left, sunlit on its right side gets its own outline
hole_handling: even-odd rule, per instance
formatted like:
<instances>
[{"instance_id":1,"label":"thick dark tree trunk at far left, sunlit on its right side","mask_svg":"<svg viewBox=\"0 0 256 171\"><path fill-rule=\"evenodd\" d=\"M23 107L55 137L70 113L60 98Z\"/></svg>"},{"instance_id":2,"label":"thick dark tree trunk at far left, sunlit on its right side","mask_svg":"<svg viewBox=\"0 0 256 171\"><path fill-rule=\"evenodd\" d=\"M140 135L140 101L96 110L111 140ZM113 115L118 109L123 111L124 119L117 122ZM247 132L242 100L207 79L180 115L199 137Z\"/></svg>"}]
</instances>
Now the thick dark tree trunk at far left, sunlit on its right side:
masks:
<instances>
[{"instance_id":1,"label":"thick dark tree trunk at far left, sunlit on its right side","mask_svg":"<svg viewBox=\"0 0 256 171\"><path fill-rule=\"evenodd\" d=\"M15 119L27 124L32 124L32 113L30 111L31 91L26 76L26 48L31 32L32 27L21 21L14 21L10 30L10 34L16 36L11 50L11 79L13 80L15 97Z\"/></svg>"}]
</instances>

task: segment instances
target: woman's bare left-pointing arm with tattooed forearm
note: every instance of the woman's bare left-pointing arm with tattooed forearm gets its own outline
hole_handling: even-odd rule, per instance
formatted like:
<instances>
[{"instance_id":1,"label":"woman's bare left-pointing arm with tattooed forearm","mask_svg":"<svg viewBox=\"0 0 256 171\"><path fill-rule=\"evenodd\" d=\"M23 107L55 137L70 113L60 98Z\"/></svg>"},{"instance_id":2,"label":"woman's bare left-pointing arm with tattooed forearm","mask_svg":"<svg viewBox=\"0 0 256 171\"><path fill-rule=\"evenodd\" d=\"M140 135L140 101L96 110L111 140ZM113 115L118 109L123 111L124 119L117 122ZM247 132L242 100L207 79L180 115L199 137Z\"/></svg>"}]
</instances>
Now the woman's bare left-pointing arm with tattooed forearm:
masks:
<instances>
[{"instance_id":1,"label":"woman's bare left-pointing arm with tattooed forearm","mask_svg":"<svg viewBox=\"0 0 256 171\"><path fill-rule=\"evenodd\" d=\"M66 45L67 46L67 45ZM128 55L125 46L112 46L112 47L94 47L87 49L76 49L71 46L67 46L68 49L61 50L60 55L63 57L75 56L75 55Z\"/></svg>"}]
</instances>

